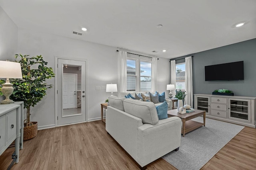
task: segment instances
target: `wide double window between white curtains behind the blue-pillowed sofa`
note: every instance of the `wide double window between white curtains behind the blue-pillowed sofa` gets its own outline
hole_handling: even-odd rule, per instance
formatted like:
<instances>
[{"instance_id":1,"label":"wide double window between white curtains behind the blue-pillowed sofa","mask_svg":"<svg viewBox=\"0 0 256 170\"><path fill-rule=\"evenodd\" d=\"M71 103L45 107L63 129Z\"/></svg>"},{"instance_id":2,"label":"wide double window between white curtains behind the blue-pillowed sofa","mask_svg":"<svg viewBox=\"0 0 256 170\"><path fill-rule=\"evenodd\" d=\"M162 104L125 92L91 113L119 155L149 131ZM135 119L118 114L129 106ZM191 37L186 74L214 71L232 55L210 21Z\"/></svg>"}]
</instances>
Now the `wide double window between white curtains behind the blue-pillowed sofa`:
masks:
<instances>
[{"instance_id":1,"label":"wide double window between white curtains behind the blue-pillowed sofa","mask_svg":"<svg viewBox=\"0 0 256 170\"><path fill-rule=\"evenodd\" d=\"M127 59L127 91L151 91L151 62Z\"/></svg>"}]
</instances>

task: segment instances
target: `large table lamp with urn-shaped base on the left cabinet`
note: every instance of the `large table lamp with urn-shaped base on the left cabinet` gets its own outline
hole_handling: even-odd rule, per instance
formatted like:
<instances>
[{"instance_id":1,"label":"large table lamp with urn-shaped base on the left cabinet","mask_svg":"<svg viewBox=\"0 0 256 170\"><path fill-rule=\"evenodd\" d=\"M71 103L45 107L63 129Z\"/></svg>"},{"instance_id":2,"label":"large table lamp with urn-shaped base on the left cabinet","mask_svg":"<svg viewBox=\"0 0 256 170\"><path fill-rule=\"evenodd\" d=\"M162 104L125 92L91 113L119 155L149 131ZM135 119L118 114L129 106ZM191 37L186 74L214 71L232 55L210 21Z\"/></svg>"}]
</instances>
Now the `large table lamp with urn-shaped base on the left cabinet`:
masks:
<instances>
[{"instance_id":1,"label":"large table lamp with urn-shaped base on the left cabinet","mask_svg":"<svg viewBox=\"0 0 256 170\"><path fill-rule=\"evenodd\" d=\"M12 104L13 100L10 100L10 96L14 88L10 83L9 78L22 78L20 63L11 61L0 61L0 78L6 78L6 83L2 84L2 93L5 96L5 100L1 104Z\"/></svg>"}]
</instances>

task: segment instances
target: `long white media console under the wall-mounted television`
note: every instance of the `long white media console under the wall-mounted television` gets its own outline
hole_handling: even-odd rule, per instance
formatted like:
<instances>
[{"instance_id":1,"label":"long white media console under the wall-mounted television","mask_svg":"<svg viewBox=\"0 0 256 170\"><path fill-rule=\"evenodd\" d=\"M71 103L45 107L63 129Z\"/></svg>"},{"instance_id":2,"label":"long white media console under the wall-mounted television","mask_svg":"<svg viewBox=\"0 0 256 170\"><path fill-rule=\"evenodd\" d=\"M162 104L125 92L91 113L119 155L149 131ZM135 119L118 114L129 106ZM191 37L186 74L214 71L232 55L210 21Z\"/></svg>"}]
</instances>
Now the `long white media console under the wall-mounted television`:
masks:
<instances>
[{"instance_id":1,"label":"long white media console under the wall-mounted television","mask_svg":"<svg viewBox=\"0 0 256 170\"><path fill-rule=\"evenodd\" d=\"M207 101L208 108L204 108L203 101ZM208 110L206 117L256 127L256 97L195 94L194 102L195 109Z\"/></svg>"}]
</instances>

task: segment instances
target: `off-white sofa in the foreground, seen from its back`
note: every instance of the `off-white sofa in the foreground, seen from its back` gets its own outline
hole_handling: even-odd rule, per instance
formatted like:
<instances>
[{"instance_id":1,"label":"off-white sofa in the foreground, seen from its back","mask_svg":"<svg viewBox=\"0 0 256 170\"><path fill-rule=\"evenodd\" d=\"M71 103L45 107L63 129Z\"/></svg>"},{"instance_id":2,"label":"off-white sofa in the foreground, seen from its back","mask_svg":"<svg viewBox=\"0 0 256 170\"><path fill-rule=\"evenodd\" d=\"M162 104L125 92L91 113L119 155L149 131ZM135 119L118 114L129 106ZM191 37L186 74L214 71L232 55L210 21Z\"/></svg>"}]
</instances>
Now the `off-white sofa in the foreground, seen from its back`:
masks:
<instances>
[{"instance_id":1,"label":"off-white sofa in the foreground, seen from its back","mask_svg":"<svg viewBox=\"0 0 256 170\"><path fill-rule=\"evenodd\" d=\"M158 119L152 102L110 96L106 131L132 156L141 169L172 150L178 151L181 119Z\"/></svg>"}]
</instances>

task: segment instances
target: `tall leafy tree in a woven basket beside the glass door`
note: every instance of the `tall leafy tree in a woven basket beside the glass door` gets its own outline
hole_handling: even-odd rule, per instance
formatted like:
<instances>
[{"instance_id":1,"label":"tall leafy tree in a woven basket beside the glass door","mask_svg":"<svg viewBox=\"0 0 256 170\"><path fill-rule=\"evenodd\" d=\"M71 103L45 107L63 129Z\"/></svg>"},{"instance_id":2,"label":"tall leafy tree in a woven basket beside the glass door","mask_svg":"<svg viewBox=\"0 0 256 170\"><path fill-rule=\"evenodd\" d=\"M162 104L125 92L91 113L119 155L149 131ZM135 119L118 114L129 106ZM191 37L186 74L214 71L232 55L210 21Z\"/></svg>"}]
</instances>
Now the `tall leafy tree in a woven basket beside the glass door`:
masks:
<instances>
[{"instance_id":1,"label":"tall leafy tree in a woven basket beside the glass door","mask_svg":"<svg viewBox=\"0 0 256 170\"><path fill-rule=\"evenodd\" d=\"M46 66L48 63L43 60L42 55L30 58L28 56L15 55L15 62L21 64L23 77L12 79L14 92L10 96L13 101L23 101L24 108L27 109L24 121L24 141L34 138L37 134L37 122L30 122L30 107L40 102L46 95L46 90L52 88L52 85L46 84L45 81L54 77L53 69ZM4 80L0 80L0 84L3 82Z\"/></svg>"}]
</instances>

